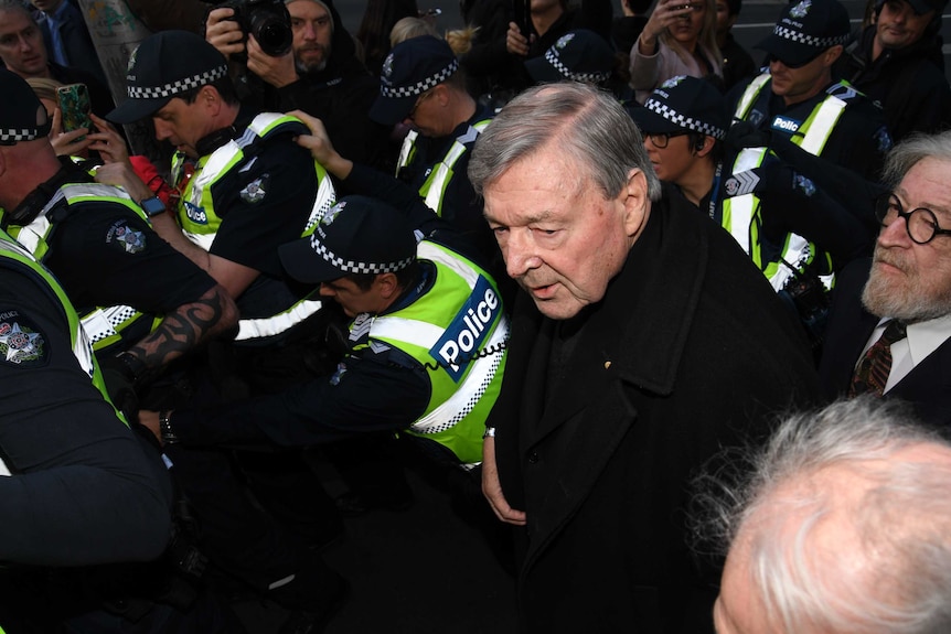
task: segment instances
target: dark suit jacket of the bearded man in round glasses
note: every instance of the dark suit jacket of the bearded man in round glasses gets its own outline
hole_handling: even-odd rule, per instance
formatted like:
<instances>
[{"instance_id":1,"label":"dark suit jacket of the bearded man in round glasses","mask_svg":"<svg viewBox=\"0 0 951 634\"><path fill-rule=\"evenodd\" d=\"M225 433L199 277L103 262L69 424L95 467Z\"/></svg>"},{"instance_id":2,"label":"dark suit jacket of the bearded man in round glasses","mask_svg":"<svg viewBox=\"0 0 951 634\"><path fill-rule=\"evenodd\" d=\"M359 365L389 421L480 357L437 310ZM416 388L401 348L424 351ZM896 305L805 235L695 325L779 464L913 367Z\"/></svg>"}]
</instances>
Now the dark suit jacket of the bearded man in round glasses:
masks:
<instances>
[{"instance_id":1,"label":"dark suit jacket of the bearded man in round glasses","mask_svg":"<svg viewBox=\"0 0 951 634\"><path fill-rule=\"evenodd\" d=\"M848 393L858 355L880 321L862 305L862 289L868 281L870 267L870 258L856 260L835 279L834 301L819 365L820 388L826 400ZM944 431L951 429L951 340L915 366L885 393L885 397L910 402L925 422Z\"/></svg>"}]
</instances>

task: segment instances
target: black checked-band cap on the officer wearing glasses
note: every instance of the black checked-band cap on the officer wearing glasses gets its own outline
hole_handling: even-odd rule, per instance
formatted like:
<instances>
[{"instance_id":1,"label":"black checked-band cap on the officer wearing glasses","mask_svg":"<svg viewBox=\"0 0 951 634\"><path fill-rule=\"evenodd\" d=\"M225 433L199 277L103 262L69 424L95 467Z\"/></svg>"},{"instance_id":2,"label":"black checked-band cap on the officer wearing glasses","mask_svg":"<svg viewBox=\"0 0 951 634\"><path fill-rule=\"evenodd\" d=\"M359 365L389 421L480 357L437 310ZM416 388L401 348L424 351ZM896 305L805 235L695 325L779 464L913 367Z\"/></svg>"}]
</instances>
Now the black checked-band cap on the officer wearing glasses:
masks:
<instances>
[{"instance_id":1,"label":"black checked-band cap on the officer wearing glasses","mask_svg":"<svg viewBox=\"0 0 951 634\"><path fill-rule=\"evenodd\" d=\"M723 140L729 118L719 90L705 79L680 75L671 77L631 111L644 135L690 130Z\"/></svg>"}]
</instances>

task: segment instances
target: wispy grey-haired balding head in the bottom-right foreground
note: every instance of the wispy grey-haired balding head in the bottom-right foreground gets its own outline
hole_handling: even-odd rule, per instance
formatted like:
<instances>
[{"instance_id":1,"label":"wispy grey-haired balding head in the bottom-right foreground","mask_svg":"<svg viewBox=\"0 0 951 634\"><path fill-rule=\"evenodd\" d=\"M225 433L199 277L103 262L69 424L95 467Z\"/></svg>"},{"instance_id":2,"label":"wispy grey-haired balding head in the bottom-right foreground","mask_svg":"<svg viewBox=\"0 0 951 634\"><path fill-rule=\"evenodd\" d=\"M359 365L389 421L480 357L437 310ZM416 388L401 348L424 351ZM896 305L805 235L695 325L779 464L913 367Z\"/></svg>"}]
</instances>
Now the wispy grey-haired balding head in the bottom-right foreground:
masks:
<instances>
[{"instance_id":1,"label":"wispy grey-haired balding head in the bottom-right foreground","mask_svg":"<svg viewBox=\"0 0 951 634\"><path fill-rule=\"evenodd\" d=\"M951 450L898 401L861 397L787 419L742 484L703 479L707 528L730 544L746 526L752 591L781 632L951 632L951 461L896 458L922 444ZM863 485L836 488L850 474ZM820 557L832 515L853 547Z\"/></svg>"}]
</instances>

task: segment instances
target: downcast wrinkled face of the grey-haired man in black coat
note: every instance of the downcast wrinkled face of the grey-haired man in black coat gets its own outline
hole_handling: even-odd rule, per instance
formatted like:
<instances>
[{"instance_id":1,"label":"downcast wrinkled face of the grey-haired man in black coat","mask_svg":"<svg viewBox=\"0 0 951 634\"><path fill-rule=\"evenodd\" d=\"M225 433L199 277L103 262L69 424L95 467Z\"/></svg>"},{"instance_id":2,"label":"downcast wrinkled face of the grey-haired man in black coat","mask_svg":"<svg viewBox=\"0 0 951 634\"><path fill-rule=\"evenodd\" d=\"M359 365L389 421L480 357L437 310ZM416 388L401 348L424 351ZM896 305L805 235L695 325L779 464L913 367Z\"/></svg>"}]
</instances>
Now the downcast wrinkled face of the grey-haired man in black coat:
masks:
<instances>
[{"instance_id":1,"label":"downcast wrinkled face of the grey-haired man in black coat","mask_svg":"<svg viewBox=\"0 0 951 634\"><path fill-rule=\"evenodd\" d=\"M606 198L556 142L484 189L485 217L505 267L538 310L569 319L605 297L649 214L642 173Z\"/></svg>"}]
</instances>

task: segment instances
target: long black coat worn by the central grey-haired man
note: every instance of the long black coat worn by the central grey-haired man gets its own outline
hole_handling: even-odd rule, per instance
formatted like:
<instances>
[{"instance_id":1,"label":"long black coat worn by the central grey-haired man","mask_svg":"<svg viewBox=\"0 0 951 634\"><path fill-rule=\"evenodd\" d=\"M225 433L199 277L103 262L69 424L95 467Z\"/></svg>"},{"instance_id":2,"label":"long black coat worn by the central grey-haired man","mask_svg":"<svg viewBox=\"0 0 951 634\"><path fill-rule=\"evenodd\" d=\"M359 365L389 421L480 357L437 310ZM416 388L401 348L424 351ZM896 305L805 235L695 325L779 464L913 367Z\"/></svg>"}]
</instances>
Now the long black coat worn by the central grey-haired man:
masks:
<instances>
[{"instance_id":1,"label":"long black coat worn by the central grey-haired man","mask_svg":"<svg viewBox=\"0 0 951 634\"><path fill-rule=\"evenodd\" d=\"M765 437L772 412L812 402L784 311L728 234L666 204L585 311L557 385L559 323L519 293L490 425L503 492L527 513L523 631L713 631L718 570L686 545L688 481L723 447Z\"/></svg>"}]
</instances>

